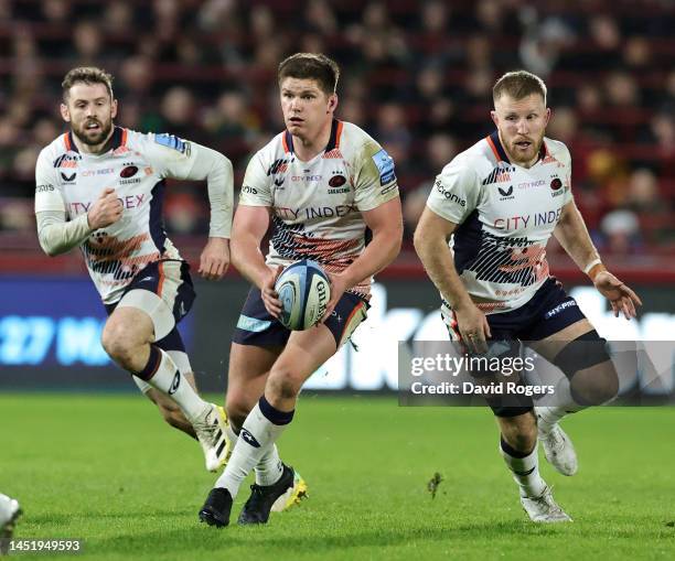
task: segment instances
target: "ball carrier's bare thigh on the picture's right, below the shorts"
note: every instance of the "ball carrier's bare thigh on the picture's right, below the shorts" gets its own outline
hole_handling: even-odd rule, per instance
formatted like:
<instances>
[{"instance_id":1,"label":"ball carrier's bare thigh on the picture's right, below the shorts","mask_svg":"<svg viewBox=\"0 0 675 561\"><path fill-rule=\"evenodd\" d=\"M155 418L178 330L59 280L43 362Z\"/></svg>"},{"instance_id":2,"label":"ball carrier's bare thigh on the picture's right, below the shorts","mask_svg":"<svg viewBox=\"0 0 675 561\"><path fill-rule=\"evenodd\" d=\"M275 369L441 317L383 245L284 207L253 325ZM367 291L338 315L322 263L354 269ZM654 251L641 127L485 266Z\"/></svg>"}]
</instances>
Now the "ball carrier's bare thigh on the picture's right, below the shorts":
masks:
<instances>
[{"instance_id":1,"label":"ball carrier's bare thigh on the picture's right, below the shorts","mask_svg":"<svg viewBox=\"0 0 675 561\"><path fill-rule=\"evenodd\" d=\"M292 397L336 350L335 336L323 324L307 331L294 331L274 364L269 381L283 397Z\"/></svg>"}]
</instances>

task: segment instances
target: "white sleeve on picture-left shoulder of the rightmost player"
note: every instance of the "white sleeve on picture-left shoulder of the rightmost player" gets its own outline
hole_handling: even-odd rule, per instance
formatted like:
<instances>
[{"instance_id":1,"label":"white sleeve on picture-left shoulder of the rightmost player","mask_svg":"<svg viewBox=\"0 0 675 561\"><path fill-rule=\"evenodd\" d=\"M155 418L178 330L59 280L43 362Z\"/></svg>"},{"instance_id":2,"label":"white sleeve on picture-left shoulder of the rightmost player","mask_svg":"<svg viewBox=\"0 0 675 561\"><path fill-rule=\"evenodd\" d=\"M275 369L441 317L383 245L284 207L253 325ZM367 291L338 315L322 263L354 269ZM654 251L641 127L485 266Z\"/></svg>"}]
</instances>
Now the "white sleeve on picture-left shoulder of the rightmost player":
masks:
<instances>
[{"instance_id":1,"label":"white sleeve on picture-left shoulder of the rightmost player","mask_svg":"<svg viewBox=\"0 0 675 561\"><path fill-rule=\"evenodd\" d=\"M465 160L453 160L436 176L427 206L441 218L462 224L478 206L480 182Z\"/></svg>"}]
</instances>

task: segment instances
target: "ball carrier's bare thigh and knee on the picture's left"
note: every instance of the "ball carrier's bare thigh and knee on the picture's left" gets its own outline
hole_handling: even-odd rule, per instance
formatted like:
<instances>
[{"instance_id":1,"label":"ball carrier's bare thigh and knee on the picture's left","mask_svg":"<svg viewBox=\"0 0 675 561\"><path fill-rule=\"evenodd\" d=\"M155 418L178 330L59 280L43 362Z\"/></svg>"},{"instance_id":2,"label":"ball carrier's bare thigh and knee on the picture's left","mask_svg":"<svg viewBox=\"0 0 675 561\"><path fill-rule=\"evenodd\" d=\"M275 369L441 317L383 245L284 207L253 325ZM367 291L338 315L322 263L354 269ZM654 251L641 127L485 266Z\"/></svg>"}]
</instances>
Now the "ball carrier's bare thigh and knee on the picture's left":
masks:
<instances>
[{"instance_id":1,"label":"ball carrier's bare thigh and knee on the picture's left","mask_svg":"<svg viewBox=\"0 0 675 561\"><path fill-rule=\"evenodd\" d=\"M247 414L256 404L267 376L282 346L242 345L233 343L229 349L229 370L227 373L226 408L231 417Z\"/></svg>"}]
</instances>

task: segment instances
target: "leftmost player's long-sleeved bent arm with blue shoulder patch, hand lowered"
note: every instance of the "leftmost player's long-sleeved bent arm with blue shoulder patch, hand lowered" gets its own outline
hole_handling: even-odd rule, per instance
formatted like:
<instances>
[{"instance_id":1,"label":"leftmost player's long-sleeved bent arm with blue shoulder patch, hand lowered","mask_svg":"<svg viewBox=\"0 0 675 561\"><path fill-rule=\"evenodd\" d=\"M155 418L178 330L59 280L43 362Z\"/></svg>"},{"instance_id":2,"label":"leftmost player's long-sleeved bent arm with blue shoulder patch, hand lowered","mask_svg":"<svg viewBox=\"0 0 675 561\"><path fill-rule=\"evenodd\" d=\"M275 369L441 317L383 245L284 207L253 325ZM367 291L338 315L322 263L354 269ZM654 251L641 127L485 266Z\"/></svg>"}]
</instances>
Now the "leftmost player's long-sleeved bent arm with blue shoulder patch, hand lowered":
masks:
<instances>
[{"instance_id":1,"label":"leftmost player's long-sleeved bent arm with blue shoulder patch, hand lowered","mask_svg":"<svg viewBox=\"0 0 675 561\"><path fill-rule=\"evenodd\" d=\"M229 236L234 199L232 162L221 152L170 134L154 136L151 157L162 175L176 180L206 181L211 223L208 241L200 258L199 272L208 280L222 279L229 267Z\"/></svg>"}]
</instances>

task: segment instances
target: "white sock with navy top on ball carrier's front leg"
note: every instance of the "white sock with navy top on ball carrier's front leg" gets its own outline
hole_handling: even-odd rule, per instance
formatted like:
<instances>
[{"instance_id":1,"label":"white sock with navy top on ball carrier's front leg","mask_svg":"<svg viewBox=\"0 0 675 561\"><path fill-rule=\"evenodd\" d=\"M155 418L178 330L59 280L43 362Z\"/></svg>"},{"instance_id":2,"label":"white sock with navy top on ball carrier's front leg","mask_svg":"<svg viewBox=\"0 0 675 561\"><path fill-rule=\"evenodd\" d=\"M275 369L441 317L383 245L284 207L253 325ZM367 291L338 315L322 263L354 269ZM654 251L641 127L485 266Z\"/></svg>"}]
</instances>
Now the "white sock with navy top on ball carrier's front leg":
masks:
<instances>
[{"instance_id":1,"label":"white sock with navy top on ball carrier's front leg","mask_svg":"<svg viewBox=\"0 0 675 561\"><path fill-rule=\"evenodd\" d=\"M224 487L233 498L236 497L246 476L267 452L271 452L293 412L275 409L262 396L244 421L232 457L214 487Z\"/></svg>"}]
</instances>

